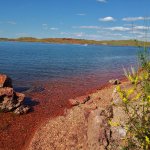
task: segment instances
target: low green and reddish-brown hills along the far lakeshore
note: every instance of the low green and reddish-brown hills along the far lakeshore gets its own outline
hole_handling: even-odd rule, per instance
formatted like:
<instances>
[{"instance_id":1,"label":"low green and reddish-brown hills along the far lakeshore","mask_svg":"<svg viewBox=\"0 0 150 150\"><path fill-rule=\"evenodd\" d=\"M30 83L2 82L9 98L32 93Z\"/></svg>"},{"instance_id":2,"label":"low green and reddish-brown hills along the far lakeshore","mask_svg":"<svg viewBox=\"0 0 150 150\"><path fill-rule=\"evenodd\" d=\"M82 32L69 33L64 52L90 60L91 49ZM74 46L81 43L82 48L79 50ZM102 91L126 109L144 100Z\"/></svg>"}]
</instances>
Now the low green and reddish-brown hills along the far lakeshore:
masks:
<instances>
[{"instance_id":1,"label":"low green and reddish-brown hills along the far lakeshore","mask_svg":"<svg viewBox=\"0 0 150 150\"><path fill-rule=\"evenodd\" d=\"M96 40L73 39L73 38L42 38L42 39L39 39L39 38L34 38L34 37L20 37L20 38L0 38L0 41L150 47L150 42L138 41L138 40L134 40L134 39L96 41Z\"/></svg>"}]
</instances>

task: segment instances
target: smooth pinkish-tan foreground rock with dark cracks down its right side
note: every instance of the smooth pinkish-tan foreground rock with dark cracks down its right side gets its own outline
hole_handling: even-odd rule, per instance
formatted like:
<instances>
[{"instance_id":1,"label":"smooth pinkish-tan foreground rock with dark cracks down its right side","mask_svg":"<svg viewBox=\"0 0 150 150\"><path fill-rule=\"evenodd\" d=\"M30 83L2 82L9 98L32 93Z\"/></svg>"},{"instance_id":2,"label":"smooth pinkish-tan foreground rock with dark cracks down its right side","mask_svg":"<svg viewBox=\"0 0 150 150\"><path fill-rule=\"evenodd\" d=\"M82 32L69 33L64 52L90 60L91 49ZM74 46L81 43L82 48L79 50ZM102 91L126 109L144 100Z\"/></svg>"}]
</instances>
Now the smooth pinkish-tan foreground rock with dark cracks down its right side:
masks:
<instances>
[{"instance_id":1,"label":"smooth pinkish-tan foreground rock with dark cracks down its right side","mask_svg":"<svg viewBox=\"0 0 150 150\"><path fill-rule=\"evenodd\" d=\"M87 147L89 150L110 148L111 129L108 121L113 117L112 107L99 107L88 117Z\"/></svg>"}]
</instances>

